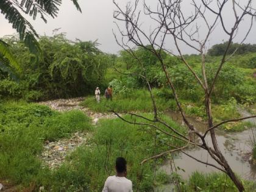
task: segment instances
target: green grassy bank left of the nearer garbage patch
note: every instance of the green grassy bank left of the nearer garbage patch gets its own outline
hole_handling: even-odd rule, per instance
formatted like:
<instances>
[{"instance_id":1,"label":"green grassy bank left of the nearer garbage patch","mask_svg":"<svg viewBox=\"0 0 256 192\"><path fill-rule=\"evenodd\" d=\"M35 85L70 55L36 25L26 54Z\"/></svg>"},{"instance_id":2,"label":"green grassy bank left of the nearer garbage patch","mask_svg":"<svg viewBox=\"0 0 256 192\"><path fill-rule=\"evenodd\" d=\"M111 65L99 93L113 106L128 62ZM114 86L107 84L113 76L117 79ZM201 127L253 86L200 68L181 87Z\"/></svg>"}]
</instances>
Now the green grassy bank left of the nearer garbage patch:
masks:
<instances>
[{"instance_id":1,"label":"green grassy bank left of the nearer garbage patch","mask_svg":"<svg viewBox=\"0 0 256 192\"><path fill-rule=\"evenodd\" d=\"M44 141L91 130L90 118L82 112L58 113L25 102L0 104L0 124L0 180L26 187L43 171L37 155Z\"/></svg>"}]
</instances>

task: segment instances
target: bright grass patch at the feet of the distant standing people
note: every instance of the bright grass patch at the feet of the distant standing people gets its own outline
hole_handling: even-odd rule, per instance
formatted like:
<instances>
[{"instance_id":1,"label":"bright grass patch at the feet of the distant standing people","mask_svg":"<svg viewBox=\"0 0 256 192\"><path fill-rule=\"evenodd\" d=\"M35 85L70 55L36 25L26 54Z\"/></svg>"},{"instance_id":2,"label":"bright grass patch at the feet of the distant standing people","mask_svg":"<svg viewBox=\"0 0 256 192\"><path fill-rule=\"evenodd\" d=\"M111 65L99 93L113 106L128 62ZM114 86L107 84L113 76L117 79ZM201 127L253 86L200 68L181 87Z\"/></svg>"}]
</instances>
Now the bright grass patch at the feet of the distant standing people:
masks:
<instances>
[{"instance_id":1,"label":"bright grass patch at the feet of the distant standing people","mask_svg":"<svg viewBox=\"0 0 256 192\"><path fill-rule=\"evenodd\" d=\"M176 103L173 99L160 98L156 94L157 90L154 90L155 101L158 110L165 111L176 108ZM94 112L108 112L108 110L114 109L116 112L152 112L153 105L152 100L147 90L133 90L126 94L114 94L113 101L107 100L104 96L101 96L101 102L99 104L92 96L85 98L85 101L81 105L90 108Z\"/></svg>"}]
</instances>

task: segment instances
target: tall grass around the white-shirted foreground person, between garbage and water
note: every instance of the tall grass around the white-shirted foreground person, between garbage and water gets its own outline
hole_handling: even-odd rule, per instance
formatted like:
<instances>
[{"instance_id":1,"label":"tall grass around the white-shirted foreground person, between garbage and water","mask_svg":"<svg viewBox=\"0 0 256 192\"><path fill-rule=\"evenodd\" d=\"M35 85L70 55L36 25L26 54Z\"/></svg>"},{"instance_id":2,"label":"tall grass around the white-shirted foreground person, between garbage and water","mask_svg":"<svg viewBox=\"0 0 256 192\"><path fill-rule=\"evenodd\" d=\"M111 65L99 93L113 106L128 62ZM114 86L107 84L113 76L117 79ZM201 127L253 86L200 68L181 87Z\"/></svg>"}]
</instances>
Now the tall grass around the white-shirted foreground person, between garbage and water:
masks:
<instances>
[{"instance_id":1,"label":"tall grass around the white-shirted foreground person, between garbage and water","mask_svg":"<svg viewBox=\"0 0 256 192\"><path fill-rule=\"evenodd\" d=\"M125 118L134 120L130 116ZM145 122L138 118L137 121ZM119 156L127 159L127 177L132 180L134 191L137 188L138 191L153 191L155 185L165 182L161 180L162 177L158 177L158 174L163 176L163 173L155 172L154 160L144 165L140 162L168 149L165 142L180 146L182 143L179 140L156 133L151 127L127 124L121 119L105 119L99 123L90 146L78 148L69 155L65 165L52 172L49 180L41 181L47 190L101 191L105 179L115 174L115 158ZM184 132L177 124L171 121L168 123Z\"/></svg>"}]
</instances>

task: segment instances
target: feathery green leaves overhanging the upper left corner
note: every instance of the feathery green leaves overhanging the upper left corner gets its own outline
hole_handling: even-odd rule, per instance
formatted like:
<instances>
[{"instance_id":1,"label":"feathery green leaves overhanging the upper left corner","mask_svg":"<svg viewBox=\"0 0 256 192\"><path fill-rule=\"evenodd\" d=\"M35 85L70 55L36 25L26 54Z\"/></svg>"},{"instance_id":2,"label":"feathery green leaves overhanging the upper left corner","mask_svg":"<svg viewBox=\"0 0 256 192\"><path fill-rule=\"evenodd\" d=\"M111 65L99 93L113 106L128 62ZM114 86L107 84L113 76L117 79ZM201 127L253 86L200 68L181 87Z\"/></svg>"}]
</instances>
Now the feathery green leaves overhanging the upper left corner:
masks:
<instances>
[{"instance_id":1,"label":"feathery green leaves overhanging the upper left corner","mask_svg":"<svg viewBox=\"0 0 256 192\"><path fill-rule=\"evenodd\" d=\"M81 12L77 0L73 1L77 10ZM5 19L12 23L13 29L20 34L20 40L24 41L24 44L29 48L30 52L35 55L40 55L41 49L37 42L36 37L38 37L32 24L21 15L22 12L29 14L35 20L37 18L37 13L40 13L41 19L46 22L45 15L50 15L55 18L59 12L59 6L62 4L62 0L0 0L0 11L5 16ZM20 67L13 55L10 52L7 44L4 41L0 41L0 59L1 65L4 66L3 56L9 60L10 64L20 72ZM5 65L6 66L6 65ZM6 66L7 67L7 66Z\"/></svg>"}]
</instances>

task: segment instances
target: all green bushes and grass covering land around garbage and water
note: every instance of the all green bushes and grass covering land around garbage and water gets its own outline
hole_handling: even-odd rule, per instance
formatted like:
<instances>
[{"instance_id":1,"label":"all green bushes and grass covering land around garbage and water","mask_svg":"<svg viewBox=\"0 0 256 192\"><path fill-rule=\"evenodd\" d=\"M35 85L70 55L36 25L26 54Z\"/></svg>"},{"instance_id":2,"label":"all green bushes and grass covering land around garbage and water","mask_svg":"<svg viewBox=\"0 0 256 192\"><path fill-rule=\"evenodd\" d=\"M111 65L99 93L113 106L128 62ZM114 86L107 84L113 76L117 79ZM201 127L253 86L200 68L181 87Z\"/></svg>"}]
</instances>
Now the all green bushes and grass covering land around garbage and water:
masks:
<instances>
[{"instance_id":1,"label":"all green bushes and grass covering land around garbage and water","mask_svg":"<svg viewBox=\"0 0 256 192\"><path fill-rule=\"evenodd\" d=\"M161 160L156 164L150 161L143 166L140 162L145 157L167 149L166 143L181 146L179 140L170 140L149 126L134 126L121 119L101 120L94 130L90 118L82 112L59 113L48 107L26 102L85 96L80 105L92 112L108 113L108 110L114 109L118 113L147 113L146 116L152 117L149 114L153 111L153 105L146 82L139 76L121 74L140 73L132 57L126 52L120 52L118 56L105 54L97 48L96 42L73 42L59 34L40 38L43 55L37 60L15 37L8 37L6 41L12 44L12 51L20 68L26 73L19 74L15 69L12 73L0 70L1 180L18 185L20 190L28 187L36 190L44 186L45 190L54 191L99 191L106 177L113 174L115 157L121 155L129 162L129 178L133 181L134 188L152 191L168 182L168 175L155 172L155 167ZM138 48L135 52L146 65L152 95L160 114L169 110L177 112L175 98L166 85L160 64L144 49ZM185 57L200 76L199 56ZM248 57L251 59L248 60ZM224 66L213 90L212 113L215 123L240 118L237 105L249 108L250 112L255 110L256 79L255 69L252 68L254 57L254 53L235 55L235 59ZM217 59L218 56L207 56L208 74L216 71ZM204 93L201 88L179 60L166 53L165 62L168 72L174 78L185 114L204 122ZM248 62L251 64L247 64ZM209 82L212 78L209 76ZM107 85L113 86L113 101L107 101L102 95L101 102L97 104L91 93L95 87L100 87L104 93ZM126 118L146 123L145 119L134 116ZM180 132L185 131L182 126L165 116L163 118ZM251 123L239 122L224 124L221 129L234 132L249 127L252 127ZM69 155L60 168L51 170L44 166L40 160L44 142L67 138L77 131L90 132L93 137L89 143ZM255 150L253 154L255 155ZM205 182L211 181L207 187L205 184L194 184L192 180L196 177L199 176L191 176L192 179L183 186L184 190L210 190L224 176L205 176ZM229 180L227 183L227 189L233 189L234 185ZM199 188L194 188L195 185ZM246 183L246 188L250 186L250 183Z\"/></svg>"}]
</instances>

